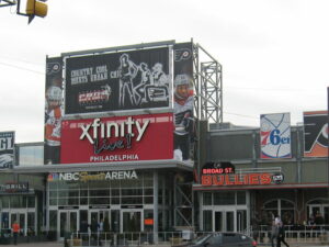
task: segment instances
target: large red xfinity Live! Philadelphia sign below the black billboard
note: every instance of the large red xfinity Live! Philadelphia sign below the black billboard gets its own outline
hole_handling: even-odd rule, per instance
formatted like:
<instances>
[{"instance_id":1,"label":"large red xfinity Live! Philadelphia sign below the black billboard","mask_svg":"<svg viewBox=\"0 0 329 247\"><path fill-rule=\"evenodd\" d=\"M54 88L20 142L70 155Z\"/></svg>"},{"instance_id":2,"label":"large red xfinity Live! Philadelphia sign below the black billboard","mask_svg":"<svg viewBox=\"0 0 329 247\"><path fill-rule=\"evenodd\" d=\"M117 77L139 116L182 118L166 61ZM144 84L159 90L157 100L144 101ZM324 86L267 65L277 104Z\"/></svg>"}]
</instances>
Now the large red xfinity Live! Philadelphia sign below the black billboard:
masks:
<instances>
[{"instance_id":1,"label":"large red xfinity Live! Philadelphia sign below the black billboard","mask_svg":"<svg viewBox=\"0 0 329 247\"><path fill-rule=\"evenodd\" d=\"M64 121L61 164L173 158L172 113Z\"/></svg>"}]
</instances>

